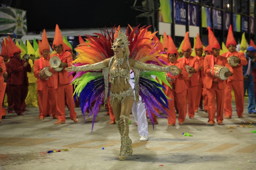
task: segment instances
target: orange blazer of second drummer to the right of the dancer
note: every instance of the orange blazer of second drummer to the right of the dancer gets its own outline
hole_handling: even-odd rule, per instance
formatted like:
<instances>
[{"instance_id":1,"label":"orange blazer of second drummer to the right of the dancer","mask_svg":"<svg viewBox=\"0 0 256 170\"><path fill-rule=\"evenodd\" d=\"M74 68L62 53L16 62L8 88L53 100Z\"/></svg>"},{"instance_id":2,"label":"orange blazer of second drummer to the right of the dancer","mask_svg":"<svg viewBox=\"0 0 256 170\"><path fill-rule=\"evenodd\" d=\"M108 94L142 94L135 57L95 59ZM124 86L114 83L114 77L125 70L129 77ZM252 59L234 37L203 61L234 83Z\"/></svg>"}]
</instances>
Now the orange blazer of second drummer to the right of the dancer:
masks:
<instances>
[{"instance_id":1,"label":"orange blazer of second drummer to the right of the dancer","mask_svg":"<svg viewBox=\"0 0 256 170\"><path fill-rule=\"evenodd\" d=\"M186 64L186 62L184 60L188 60L189 64ZM191 86L198 86L199 85L199 77L200 77L200 74L198 73L198 69L200 66L199 66L197 58L190 56L188 59L186 59L185 57L183 57L183 58L178 59L177 61L183 62L185 64L185 66L188 65L188 66L191 66L196 69L196 72L191 77L188 77L187 80L191 81Z\"/></svg>"}]
</instances>

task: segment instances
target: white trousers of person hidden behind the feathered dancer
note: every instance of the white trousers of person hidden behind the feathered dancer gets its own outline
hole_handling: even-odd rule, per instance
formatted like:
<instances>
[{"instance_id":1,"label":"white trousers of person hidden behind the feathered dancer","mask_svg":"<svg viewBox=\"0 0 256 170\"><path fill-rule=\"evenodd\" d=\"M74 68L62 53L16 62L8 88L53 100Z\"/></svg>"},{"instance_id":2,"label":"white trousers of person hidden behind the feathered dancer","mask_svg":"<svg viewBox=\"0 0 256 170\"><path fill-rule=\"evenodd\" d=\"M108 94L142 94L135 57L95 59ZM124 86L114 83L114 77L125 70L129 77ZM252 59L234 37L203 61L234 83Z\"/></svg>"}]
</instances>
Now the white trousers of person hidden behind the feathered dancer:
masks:
<instances>
[{"instance_id":1,"label":"white trousers of person hidden behind the feathered dancer","mask_svg":"<svg viewBox=\"0 0 256 170\"><path fill-rule=\"evenodd\" d=\"M139 135L148 136L148 121L146 116L145 103L139 101L138 104L136 104L136 101L133 101L132 113L135 122L138 124Z\"/></svg>"}]
</instances>

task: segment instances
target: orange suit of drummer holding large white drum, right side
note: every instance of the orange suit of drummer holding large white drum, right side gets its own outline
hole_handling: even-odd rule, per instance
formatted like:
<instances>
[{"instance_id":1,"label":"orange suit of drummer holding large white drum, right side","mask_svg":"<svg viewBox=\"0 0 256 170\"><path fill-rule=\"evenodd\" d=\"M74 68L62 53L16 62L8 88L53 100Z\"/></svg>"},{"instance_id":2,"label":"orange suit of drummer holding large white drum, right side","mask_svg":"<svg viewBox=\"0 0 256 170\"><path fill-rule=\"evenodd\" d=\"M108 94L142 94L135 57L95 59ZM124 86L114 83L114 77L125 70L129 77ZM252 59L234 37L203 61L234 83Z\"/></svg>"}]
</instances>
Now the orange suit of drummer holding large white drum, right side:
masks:
<instances>
[{"instance_id":1,"label":"orange suit of drummer holding large white drum, right side","mask_svg":"<svg viewBox=\"0 0 256 170\"><path fill-rule=\"evenodd\" d=\"M205 85L208 94L208 116L209 123L215 124L215 97L217 100L217 122L223 121L223 108L224 108L224 93L226 88L226 81L217 79L211 75L211 57L212 55L207 55L204 59L204 73L206 73ZM229 71L233 73L232 67L228 64L227 58L223 56L218 56L217 61L214 64L222 65L229 68Z\"/></svg>"}]
</instances>

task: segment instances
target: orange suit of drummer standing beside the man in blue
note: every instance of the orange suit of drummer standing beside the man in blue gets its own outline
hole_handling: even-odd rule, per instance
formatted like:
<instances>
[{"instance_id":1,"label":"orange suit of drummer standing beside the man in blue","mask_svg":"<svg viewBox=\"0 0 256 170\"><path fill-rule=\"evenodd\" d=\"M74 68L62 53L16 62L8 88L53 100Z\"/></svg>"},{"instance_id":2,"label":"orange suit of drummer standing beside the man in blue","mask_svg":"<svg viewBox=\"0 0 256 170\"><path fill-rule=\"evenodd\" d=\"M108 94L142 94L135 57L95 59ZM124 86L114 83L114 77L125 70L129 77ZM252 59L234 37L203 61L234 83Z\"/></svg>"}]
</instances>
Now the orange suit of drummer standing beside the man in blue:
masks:
<instances>
[{"instance_id":1,"label":"orange suit of drummer standing beside the man in blue","mask_svg":"<svg viewBox=\"0 0 256 170\"><path fill-rule=\"evenodd\" d=\"M243 110L244 110L243 66L247 65L248 61L245 58L244 53L237 52L237 51L235 51L234 53L225 52L222 54L222 56L225 56L225 57L236 56L241 60L241 62L236 67L232 67L234 74L230 76L227 80L227 86L225 89L225 103L224 103L225 117L232 116L232 106L231 106L232 88L234 88L237 116L243 117Z\"/></svg>"}]
</instances>

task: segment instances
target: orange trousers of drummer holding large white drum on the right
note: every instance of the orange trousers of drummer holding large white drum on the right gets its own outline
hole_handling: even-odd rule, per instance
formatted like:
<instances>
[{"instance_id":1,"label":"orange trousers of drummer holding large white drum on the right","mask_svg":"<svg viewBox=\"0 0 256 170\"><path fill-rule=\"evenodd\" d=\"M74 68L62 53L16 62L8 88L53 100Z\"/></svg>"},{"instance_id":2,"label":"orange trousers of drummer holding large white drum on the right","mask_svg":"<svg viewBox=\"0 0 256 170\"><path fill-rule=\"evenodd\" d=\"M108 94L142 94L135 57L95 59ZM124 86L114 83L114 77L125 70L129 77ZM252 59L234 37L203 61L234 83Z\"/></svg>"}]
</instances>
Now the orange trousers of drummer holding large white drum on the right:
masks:
<instances>
[{"instance_id":1,"label":"orange trousers of drummer holding large white drum on the right","mask_svg":"<svg viewBox=\"0 0 256 170\"><path fill-rule=\"evenodd\" d=\"M213 82L213 85L210 89L207 89L208 94L208 117L209 121L213 121L215 124L215 97L217 101L217 121L223 121L223 109L224 109L224 95L225 89L218 88L218 82Z\"/></svg>"}]
</instances>

